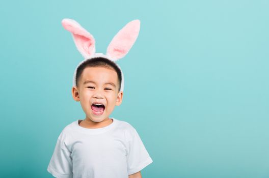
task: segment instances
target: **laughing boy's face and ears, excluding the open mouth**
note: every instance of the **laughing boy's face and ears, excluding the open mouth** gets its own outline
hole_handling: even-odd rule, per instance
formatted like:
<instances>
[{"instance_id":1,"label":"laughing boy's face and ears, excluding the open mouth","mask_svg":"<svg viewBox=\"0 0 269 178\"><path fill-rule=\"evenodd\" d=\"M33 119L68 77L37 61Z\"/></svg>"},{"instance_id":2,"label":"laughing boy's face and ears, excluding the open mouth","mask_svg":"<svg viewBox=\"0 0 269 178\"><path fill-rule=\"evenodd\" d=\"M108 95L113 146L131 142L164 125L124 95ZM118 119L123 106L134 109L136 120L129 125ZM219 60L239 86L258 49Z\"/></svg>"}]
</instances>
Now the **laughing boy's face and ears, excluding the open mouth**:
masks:
<instances>
[{"instance_id":1,"label":"laughing boy's face and ears, excluding the open mouth","mask_svg":"<svg viewBox=\"0 0 269 178\"><path fill-rule=\"evenodd\" d=\"M90 82L91 81L91 82ZM115 86L108 83L114 83ZM115 70L104 67L86 67L78 81L78 87L72 88L75 101L80 101L86 120L102 122L109 120L109 115L114 110L115 105L122 102L123 92L119 90L118 76ZM92 104L102 103L104 111L96 114L92 110Z\"/></svg>"}]
</instances>

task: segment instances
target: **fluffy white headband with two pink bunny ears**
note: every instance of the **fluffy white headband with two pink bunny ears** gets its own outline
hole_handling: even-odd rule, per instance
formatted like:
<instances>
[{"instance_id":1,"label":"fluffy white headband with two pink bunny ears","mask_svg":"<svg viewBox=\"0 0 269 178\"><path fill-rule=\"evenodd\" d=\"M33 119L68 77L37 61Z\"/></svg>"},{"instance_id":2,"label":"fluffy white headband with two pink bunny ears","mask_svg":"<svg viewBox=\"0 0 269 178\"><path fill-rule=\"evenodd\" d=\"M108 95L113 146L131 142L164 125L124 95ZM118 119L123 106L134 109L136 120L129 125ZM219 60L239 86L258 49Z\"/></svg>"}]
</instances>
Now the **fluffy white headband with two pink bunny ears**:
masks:
<instances>
[{"instance_id":1,"label":"fluffy white headband with two pink bunny ears","mask_svg":"<svg viewBox=\"0 0 269 178\"><path fill-rule=\"evenodd\" d=\"M132 20L127 23L112 39L109 46L106 49L106 54L95 53L95 40L93 36L86 31L79 23L73 19L65 18L62 20L62 25L64 28L72 33L73 40L78 51L83 55L84 60L80 62L73 75L73 86L76 86L76 72L77 68L84 62L91 60L95 57L104 57L108 60L113 61L114 63L120 58L124 57L129 50L131 49L134 42L137 40L139 30L140 30L140 21ZM124 88L124 78L120 66L115 63L122 75L122 82L120 86L120 91L123 91Z\"/></svg>"}]
</instances>

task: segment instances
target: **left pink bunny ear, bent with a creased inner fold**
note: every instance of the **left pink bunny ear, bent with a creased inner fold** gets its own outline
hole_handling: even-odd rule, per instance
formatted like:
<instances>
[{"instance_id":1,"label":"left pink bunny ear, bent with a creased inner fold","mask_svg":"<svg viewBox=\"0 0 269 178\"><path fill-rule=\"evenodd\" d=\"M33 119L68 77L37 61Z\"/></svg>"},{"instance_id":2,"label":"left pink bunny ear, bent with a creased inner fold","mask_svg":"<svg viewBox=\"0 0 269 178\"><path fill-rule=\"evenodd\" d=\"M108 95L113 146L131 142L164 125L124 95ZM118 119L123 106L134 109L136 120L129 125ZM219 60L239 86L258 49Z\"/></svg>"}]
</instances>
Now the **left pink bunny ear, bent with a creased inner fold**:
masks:
<instances>
[{"instance_id":1,"label":"left pink bunny ear, bent with a creased inner fold","mask_svg":"<svg viewBox=\"0 0 269 178\"><path fill-rule=\"evenodd\" d=\"M84 58L89 58L95 53L95 40L79 23L73 19L65 18L62 20L64 28L71 32L75 45Z\"/></svg>"}]
</instances>

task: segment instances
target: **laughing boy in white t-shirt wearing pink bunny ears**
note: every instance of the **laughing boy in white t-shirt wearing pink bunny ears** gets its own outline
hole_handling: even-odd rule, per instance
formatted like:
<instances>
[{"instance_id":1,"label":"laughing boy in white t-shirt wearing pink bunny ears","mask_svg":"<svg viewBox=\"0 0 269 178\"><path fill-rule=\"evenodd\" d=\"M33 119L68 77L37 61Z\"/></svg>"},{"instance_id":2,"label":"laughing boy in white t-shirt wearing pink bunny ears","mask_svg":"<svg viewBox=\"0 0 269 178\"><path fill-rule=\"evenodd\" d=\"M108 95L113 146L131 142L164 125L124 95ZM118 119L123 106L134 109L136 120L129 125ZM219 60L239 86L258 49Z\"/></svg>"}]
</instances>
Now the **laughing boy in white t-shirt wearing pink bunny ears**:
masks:
<instances>
[{"instance_id":1,"label":"laughing boy in white t-shirt wearing pink bunny ears","mask_svg":"<svg viewBox=\"0 0 269 178\"><path fill-rule=\"evenodd\" d=\"M123 97L123 73L115 59L123 57L136 40L138 21L128 23L114 37L106 55L95 53L93 37L77 22L64 19L62 23L85 56L74 73L72 96L80 101L86 118L63 129L48 172L55 177L141 177L141 170L153 161L139 134L127 122L109 117ZM128 39L129 46L120 47L119 39Z\"/></svg>"}]
</instances>

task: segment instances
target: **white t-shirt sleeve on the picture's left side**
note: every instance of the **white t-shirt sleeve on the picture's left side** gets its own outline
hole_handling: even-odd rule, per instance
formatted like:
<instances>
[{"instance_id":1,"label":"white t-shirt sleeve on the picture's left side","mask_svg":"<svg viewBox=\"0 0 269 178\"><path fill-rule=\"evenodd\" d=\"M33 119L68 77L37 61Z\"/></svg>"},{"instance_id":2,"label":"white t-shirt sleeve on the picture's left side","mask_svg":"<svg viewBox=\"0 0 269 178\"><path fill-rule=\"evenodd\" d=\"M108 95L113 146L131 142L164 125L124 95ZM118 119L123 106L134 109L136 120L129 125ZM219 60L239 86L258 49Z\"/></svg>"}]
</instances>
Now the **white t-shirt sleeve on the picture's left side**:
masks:
<instances>
[{"instance_id":1,"label":"white t-shirt sleeve on the picture's left side","mask_svg":"<svg viewBox=\"0 0 269 178\"><path fill-rule=\"evenodd\" d=\"M57 178L71 178L73 177L72 165L71 153L62 139L61 133L57 139L47 171Z\"/></svg>"}]
</instances>

